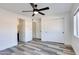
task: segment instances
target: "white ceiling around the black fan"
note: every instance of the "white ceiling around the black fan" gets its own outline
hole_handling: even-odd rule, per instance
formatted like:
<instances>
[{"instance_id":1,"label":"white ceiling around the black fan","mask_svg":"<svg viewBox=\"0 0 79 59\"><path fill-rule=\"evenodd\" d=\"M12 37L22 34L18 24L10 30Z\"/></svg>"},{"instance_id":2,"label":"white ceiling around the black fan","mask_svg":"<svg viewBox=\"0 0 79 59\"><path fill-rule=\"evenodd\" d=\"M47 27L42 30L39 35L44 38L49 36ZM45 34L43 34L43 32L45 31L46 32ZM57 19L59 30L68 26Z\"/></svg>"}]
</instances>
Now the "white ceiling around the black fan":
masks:
<instances>
[{"instance_id":1,"label":"white ceiling around the black fan","mask_svg":"<svg viewBox=\"0 0 79 59\"><path fill-rule=\"evenodd\" d=\"M71 3L37 3L37 8L44 8L49 7L49 10L42 11L46 15L52 15L57 13L66 13L71 10L72 4ZM32 10L32 7L29 3L0 3L0 8L5 10L15 12L18 14L23 14L27 16L31 16L32 12L23 13L22 10Z\"/></svg>"}]
</instances>

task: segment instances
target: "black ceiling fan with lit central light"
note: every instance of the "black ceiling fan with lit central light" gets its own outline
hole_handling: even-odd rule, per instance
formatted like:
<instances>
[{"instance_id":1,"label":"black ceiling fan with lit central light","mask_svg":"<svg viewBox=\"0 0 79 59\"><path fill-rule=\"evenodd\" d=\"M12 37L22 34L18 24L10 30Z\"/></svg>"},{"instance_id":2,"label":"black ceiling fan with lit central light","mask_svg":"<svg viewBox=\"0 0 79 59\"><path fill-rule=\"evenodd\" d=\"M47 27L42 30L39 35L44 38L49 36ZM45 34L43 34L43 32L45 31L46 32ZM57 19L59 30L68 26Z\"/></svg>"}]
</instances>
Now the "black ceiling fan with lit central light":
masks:
<instances>
[{"instance_id":1,"label":"black ceiling fan with lit central light","mask_svg":"<svg viewBox=\"0 0 79 59\"><path fill-rule=\"evenodd\" d=\"M34 3L30 3L30 5L32 6L33 10L29 10L29 11L22 11L22 12L33 12L32 16L36 15L36 14L41 14L41 15L45 15L44 13L42 13L41 11L44 10L49 10L49 7L45 7L45 8L41 8L41 9L37 9L37 4Z\"/></svg>"}]
</instances>

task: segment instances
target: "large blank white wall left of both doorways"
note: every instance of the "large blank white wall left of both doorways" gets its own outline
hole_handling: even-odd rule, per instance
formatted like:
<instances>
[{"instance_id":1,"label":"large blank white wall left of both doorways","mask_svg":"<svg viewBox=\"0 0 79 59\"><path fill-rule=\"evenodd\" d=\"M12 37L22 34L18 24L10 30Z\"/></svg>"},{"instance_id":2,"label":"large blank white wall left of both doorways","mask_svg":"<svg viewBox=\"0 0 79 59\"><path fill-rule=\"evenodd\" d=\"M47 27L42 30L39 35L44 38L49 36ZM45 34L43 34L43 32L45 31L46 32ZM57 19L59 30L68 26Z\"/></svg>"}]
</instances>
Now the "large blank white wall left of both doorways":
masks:
<instances>
[{"instance_id":1,"label":"large blank white wall left of both doorways","mask_svg":"<svg viewBox=\"0 0 79 59\"><path fill-rule=\"evenodd\" d=\"M16 15L0 9L0 50L17 45Z\"/></svg>"}]
</instances>

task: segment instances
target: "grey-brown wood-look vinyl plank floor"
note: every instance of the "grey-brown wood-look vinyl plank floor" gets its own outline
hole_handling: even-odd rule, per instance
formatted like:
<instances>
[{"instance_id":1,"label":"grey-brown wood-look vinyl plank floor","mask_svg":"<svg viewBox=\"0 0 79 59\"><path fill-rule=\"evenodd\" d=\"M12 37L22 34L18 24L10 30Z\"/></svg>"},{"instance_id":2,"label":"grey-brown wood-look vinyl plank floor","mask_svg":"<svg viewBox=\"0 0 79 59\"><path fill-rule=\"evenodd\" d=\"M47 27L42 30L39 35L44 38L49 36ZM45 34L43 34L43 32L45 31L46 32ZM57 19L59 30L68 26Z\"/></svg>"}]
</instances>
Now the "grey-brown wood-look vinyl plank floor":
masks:
<instances>
[{"instance_id":1,"label":"grey-brown wood-look vinyl plank floor","mask_svg":"<svg viewBox=\"0 0 79 59\"><path fill-rule=\"evenodd\" d=\"M75 55L64 44L48 41L20 42L19 45L0 51L0 55Z\"/></svg>"}]
</instances>

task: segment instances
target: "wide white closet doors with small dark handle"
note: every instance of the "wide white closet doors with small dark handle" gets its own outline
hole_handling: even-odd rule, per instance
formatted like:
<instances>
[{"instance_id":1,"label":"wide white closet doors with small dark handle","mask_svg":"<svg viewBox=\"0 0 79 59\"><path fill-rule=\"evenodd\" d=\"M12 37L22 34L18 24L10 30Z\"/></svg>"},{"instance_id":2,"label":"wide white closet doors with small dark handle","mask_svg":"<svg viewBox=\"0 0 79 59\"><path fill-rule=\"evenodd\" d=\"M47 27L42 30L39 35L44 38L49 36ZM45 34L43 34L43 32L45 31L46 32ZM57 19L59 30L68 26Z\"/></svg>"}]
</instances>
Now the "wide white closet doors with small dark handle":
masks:
<instances>
[{"instance_id":1,"label":"wide white closet doors with small dark handle","mask_svg":"<svg viewBox=\"0 0 79 59\"><path fill-rule=\"evenodd\" d=\"M42 20L42 40L64 43L64 20Z\"/></svg>"}]
</instances>

